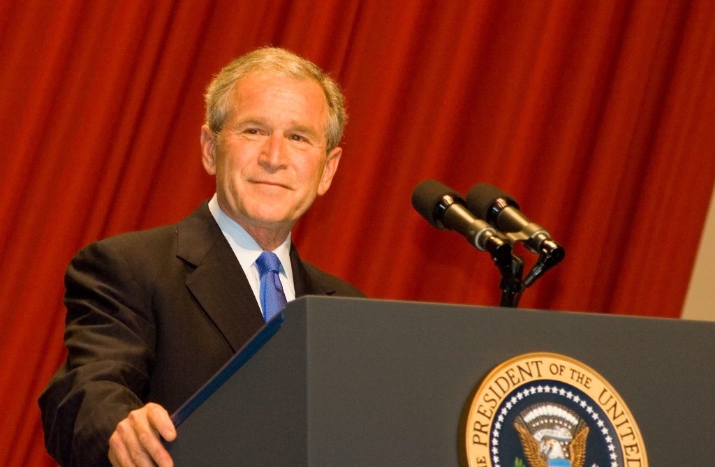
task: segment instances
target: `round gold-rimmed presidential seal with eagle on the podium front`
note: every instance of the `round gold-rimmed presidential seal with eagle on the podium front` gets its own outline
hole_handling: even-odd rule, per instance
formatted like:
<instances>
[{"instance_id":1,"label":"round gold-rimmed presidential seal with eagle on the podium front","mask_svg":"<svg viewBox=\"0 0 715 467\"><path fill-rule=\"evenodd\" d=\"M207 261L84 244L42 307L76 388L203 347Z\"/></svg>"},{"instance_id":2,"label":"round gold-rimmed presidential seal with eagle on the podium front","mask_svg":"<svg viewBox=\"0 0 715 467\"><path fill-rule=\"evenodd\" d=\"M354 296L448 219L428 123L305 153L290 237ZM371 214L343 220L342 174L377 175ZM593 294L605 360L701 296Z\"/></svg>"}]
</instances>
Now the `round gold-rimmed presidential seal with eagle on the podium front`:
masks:
<instances>
[{"instance_id":1,"label":"round gold-rimmed presidential seal with eagle on the podium front","mask_svg":"<svg viewBox=\"0 0 715 467\"><path fill-rule=\"evenodd\" d=\"M494 368L463 416L470 467L647 467L621 396L573 358L527 353Z\"/></svg>"}]
</instances>

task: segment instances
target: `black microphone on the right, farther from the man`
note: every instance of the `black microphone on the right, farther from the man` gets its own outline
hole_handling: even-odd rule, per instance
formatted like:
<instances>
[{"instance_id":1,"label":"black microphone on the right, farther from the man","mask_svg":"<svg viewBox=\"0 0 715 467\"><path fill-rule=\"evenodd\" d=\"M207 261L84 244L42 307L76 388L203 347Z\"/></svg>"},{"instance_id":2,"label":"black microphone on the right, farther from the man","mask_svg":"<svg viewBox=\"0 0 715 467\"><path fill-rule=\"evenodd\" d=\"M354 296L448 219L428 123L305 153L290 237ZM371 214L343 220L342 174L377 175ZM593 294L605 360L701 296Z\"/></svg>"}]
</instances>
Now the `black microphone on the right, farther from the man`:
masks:
<instances>
[{"instance_id":1,"label":"black microphone on the right, farther from the man","mask_svg":"<svg viewBox=\"0 0 715 467\"><path fill-rule=\"evenodd\" d=\"M467 194L467 206L477 217L501 230L510 242L523 242L528 250L541 255L539 267L543 270L556 265L566 255L563 247L551 240L551 235L541 225L521 213L511 196L493 185L474 185ZM529 285L526 282L533 280L525 280L525 285Z\"/></svg>"}]
</instances>

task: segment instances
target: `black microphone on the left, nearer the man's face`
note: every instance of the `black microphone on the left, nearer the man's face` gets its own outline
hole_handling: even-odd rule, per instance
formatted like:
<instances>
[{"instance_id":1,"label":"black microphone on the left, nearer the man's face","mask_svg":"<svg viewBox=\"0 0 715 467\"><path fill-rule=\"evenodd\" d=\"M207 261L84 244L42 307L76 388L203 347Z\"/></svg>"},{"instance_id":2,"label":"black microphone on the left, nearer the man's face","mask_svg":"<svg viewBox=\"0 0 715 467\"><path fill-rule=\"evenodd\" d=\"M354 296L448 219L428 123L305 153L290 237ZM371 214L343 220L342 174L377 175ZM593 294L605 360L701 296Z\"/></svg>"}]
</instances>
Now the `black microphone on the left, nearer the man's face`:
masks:
<instances>
[{"instance_id":1,"label":"black microphone on the left, nearer the man's face","mask_svg":"<svg viewBox=\"0 0 715 467\"><path fill-rule=\"evenodd\" d=\"M511 266L511 244L492 226L477 219L465 201L450 187L436 180L421 182L412 193L412 205L433 227L455 230L479 250L488 251L495 262Z\"/></svg>"}]
</instances>

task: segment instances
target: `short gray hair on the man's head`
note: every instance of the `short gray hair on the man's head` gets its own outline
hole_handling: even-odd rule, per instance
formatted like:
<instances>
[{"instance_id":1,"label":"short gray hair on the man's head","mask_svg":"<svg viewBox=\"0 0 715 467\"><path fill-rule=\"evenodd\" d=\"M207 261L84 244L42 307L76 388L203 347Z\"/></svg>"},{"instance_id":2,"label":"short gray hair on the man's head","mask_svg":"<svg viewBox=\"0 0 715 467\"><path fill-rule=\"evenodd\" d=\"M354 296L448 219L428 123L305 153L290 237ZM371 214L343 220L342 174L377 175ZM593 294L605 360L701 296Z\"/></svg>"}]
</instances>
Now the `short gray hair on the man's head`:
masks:
<instances>
[{"instance_id":1,"label":"short gray hair on the man's head","mask_svg":"<svg viewBox=\"0 0 715 467\"><path fill-rule=\"evenodd\" d=\"M332 151L342 138L347 122L344 97L330 75L307 59L286 49L262 47L227 64L206 88L206 124L212 132L221 132L231 114L231 95L238 80L250 72L272 72L292 79L312 79L320 84L327 101L326 150Z\"/></svg>"}]
</instances>

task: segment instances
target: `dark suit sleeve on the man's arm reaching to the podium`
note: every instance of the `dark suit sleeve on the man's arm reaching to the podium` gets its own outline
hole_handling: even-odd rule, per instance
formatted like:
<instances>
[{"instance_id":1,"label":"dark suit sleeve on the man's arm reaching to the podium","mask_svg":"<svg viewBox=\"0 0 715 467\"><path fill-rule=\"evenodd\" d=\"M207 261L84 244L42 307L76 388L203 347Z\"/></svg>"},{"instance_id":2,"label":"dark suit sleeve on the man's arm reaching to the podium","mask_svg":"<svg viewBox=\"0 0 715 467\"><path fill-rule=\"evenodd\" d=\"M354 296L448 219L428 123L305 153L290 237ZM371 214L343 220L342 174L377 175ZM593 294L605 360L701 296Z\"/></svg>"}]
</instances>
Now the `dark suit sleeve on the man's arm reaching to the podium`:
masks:
<instances>
[{"instance_id":1,"label":"dark suit sleeve on the man's arm reaching to the podium","mask_svg":"<svg viewBox=\"0 0 715 467\"><path fill-rule=\"evenodd\" d=\"M39 399L47 450L63 466L109 465L109 436L147 394L151 290L120 246L89 245L65 275L68 355Z\"/></svg>"}]
</instances>

